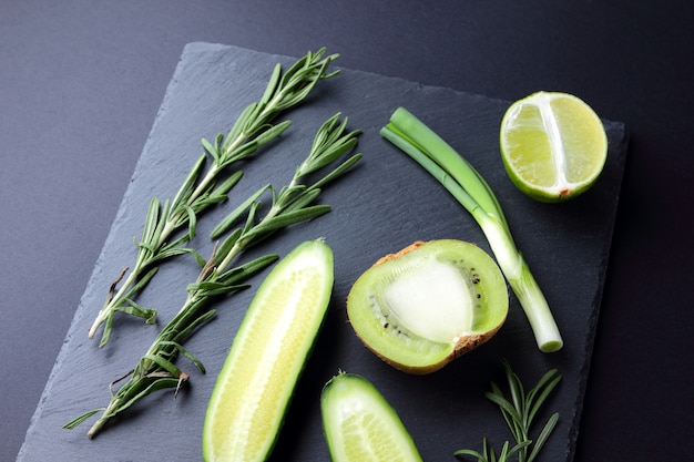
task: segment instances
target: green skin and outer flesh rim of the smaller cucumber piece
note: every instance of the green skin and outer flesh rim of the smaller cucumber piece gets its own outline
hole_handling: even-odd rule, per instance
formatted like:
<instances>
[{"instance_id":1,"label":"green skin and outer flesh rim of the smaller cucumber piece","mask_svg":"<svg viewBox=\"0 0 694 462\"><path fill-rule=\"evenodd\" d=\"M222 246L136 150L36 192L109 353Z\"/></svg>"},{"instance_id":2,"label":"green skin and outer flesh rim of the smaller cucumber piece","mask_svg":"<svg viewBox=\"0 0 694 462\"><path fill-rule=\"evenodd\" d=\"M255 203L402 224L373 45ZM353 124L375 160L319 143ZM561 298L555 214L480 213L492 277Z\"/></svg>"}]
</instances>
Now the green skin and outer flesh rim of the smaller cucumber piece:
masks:
<instances>
[{"instance_id":1,"label":"green skin and outer flesh rim of the smaller cucumber piece","mask_svg":"<svg viewBox=\"0 0 694 462\"><path fill-rule=\"evenodd\" d=\"M377 413L382 422L387 422L388 434L401 442L397 453L402 455L402 460L422 462L412 437L386 398L364 377L346 372L340 372L330 379L320 393L323 428L333 462L354 462L343 453L338 441L343 418L346 414L346 412L340 411L340 407L344 404L354 410L356 403L363 404L361 409ZM391 460L389 458L382 462L390 462Z\"/></svg>"}]
</instances>

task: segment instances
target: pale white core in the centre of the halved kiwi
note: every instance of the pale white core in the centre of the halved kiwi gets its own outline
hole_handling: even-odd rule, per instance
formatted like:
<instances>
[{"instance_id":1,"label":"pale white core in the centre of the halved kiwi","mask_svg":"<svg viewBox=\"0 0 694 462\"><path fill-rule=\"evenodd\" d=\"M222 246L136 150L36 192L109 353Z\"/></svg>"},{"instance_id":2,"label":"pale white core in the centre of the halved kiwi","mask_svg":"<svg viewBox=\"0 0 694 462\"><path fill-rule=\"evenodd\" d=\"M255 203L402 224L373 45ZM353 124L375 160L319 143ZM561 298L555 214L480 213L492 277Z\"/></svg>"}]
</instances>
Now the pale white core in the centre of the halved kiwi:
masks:
<instances>
[{"instance_id":1,"label":"pale white core in the centre of the halved kiwi","mask_svg":"<svg viewBox=\"0 0 694 462\"><path fill-rule=\"evenodd\" d=\"M385 290L401 328L440 342L456 342L472 327L472 296L453 266L430 258L398 275Z\"/></svg>"}]
</instances>

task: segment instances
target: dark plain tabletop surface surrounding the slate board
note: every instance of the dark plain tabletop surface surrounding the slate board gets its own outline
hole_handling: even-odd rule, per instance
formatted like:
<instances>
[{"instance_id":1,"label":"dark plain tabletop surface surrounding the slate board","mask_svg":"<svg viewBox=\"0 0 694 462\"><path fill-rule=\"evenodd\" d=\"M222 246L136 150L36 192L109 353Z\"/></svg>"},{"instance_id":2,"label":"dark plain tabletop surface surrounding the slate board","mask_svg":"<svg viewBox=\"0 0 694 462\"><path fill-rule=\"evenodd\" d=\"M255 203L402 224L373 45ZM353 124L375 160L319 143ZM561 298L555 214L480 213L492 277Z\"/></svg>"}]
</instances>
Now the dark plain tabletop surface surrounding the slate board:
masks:
<instances>
[{"instance_id":1,"label":"dark plain tabletop surface surrounding the slate board","mask_svg":"<svg viewBox=\"0 0 694 462\"><path fill-rule=\"evenodd\" d=\"M624 122L630 151L575 460L687 459L692 18L674 0L2 2L0 460L17 455L193 41L287 55L325 45L341 66L506 100L561 90Z\"/></svg>"}]
</instances>

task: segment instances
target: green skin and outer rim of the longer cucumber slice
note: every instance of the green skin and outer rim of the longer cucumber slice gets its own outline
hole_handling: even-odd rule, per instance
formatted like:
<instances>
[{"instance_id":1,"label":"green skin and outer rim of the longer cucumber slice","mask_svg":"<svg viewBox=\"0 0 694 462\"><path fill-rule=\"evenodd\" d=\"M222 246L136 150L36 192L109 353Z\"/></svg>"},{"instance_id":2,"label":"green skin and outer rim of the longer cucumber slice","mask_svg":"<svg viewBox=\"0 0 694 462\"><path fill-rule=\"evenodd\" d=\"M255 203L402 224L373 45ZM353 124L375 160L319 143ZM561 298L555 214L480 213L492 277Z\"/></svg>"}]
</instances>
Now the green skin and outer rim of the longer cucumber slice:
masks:
<instances>
[{"instance_id":1,"label":"green skin and outer rim of the longer cucumber slice","mask_svg":"<svg viewBox=\"0 0 694 462\"><path fill-rule=\"evenodd\" d=\"M244 317L244 320L242 321L238 331L236 332L236 338L239 337L246 337L244 336L243 331L246 325L251 324L248 321L249 318L252 318L252 311L259 309L261 307L258 306L258 304L255 302L255 300L257 298L262 298L261 297L261 292L265 287L268 287L273 284L273 274L275 273L282 273L284 267L286 266L290 266L294 265L294 260L295 259L300 259L302 258L302 253L303 251L318 251L322 253L322 258L325 259L325 287L324 287L324 294L320 297L319 300L316 300L316 308L317 310L320 310L320 314L316 316L316 318L318 319L315 324L315 326L312 328L312 338L307 338L305 339L304 342L304 351L300 351L300 353L304 355L296 355L294 358L289 358L287 359L288 361L293 362L293 369L290 371L290 373L287 373L284 377L277 377L274 380L285 380L287 382L287 387L286 387L286 393L285 393L285 400L283 402L283 407L284 409L280 410L279 414L279 420L276 422L273 422L274 427L275 427L275 437L274 440L272 442L269 442L268 446L267 446L267 452L265 454L265 456L262 460L266 460L269 454L272 453L272 450L277 441L277 438L279 437L279 430L282 428L282 424L284 422L284 415L286 414L287 408L289 407L289 402L292 400L292 397L294 394L294 389L296 387L296 383L298 381L298 378L300 377L304 366L306 365L306 360L308 359L308 357L310 356L310 352L313 351L314 345L315 345L315 340L317 338L318 331L320 330L322 326L323 326L323 321L325 319L325 315L327 312L327 308L329 306L329 299L330 299L330 295L333 291L333 283L334 283L334 255L333 255L333 250L331 248L325 244L322 239L318 240L308 240L305 242L303 244L299 244L297 247L295 247L289 254L287 254L283 259L279 260L279 263L275 266L275 268L273 268L273 270L267 275L267 277L265 278L265 280L261 284L261 286L258 287L256 295L254 296L254 299L252 300L247 311L246 311L246 316ZM247 330L247 329L246 329ZM221 379L224 377L224 372L225 369L228 367L227 365L231 365L233 362L233 356L235 355L235 349L234 346L232 346L227 358L224 362L224 366L222 367L222 370L220 371L218 378L217 378L217 384L220 383ZM203 427L203 438L202 438L202 453L203 453L203 460L205 462L210 462L213 461L214 458L212 456L212 450L208 448L208 442L207 442L207 427L208 427L208 419L210 419L210 413L212 408L214 408L214 404L216 402L215 398L216 394L218 392L218 387L215 384L215 389L213 390L208 407L207 407L207 417L205 418L205 423ZM251 461L244 461L244 462L251 462ZM256 462L259 462L256 461Z\"/></svg>"}]
</instances>

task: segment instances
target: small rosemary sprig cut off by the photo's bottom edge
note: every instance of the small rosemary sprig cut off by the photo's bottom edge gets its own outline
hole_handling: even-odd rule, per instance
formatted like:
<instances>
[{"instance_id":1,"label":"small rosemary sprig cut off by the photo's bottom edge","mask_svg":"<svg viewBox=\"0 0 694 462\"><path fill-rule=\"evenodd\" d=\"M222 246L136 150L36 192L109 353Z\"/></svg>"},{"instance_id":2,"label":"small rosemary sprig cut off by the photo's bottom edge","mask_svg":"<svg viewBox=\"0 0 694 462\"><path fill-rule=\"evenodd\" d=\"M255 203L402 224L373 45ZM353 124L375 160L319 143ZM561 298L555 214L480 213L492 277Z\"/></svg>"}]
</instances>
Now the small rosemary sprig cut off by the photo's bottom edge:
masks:
<instances>
[{"instance_id":1,"label":"small rosemary sprig cut off by the photo's bottom edge","mask_svg":"<svg viewBox=\"0 0 694 462\"><path fill-rule=\"evenodd\" d=\"M497 455L487 438L483 438L481 453L470 449L461 449L455 452L456 456L470 455L476 458L478 462L508 462L511 460L511 456L517 454L519 462L533 462L557 427L559 413L554 412L538 437L534 440L530 439L530 429L534 418L542 404L547 401L549 394L561 381L561 376L557 369L551 369L544 373L534 388L525 393L523 383L518 374L511 370L511 366L508 361L503 361L503 367L511 393L510 400L504 397L501 389L494 382L491 383L491 391L484 393L484 397L499 405L501 414L513 434L516 445L509 449L510 443L506 441L501 448L501 452Z\"/></svg>"}]
</instances>

